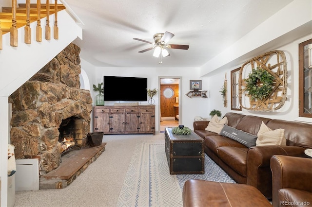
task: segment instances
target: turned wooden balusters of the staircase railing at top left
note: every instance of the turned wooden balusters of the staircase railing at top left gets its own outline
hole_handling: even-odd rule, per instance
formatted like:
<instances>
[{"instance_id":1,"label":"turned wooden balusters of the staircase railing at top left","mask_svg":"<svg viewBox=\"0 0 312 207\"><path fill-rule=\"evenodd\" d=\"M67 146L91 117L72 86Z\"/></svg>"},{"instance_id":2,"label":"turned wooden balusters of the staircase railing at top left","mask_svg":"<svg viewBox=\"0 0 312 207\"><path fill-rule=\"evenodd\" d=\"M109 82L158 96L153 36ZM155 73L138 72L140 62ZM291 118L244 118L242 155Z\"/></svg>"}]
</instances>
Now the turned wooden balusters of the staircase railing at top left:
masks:
<instances>
[{"instance_id":1,"label":"turned wooden balusters of the staircase railing at top left","mask_svg":"<svg viewBox=\"0 0 312 207\"><path fill-rule=\"evenodd\" d=\"M23 26L24 27L24 42L26 44L31 44L31 18L30 14L34 14L33 10L31 10L31 4L30 0L25 1L25 14L26 14L26 22ZM35 4L36 7L36 4ZM33 7L33 8L35 8ZM45 26L45 39L51 40L51 28L50 28L50 1L46 0L46 26ZM32 8L32 9L33 9ZM54 27L53 27L53 37L54 39L59 39L59 28L58 28L58 0L55 0L54 5L54 12L51 12L55 14L55 21L54 21ZM64 8L64 7L63 7ZM61 9L63 9L61 8ZM18 47L18 27L20 27L20 24L18 25L17 20L17 0L12 0L12 26L9 30L10 32L10 45L12 47ZM45 15L44 15L45 16ZM32 18L33 19L33 18ZM2 26L3 28L3 26ZM5 32L5 31L4 31ZM2 50L2 34L3 29L1 29L1 20L0 20L0 50ZM36 41L41 42L42 41L42 28L41 28L41 2L40 0L37 0L37 26L36 26Z\"/></svg>"}]
</instances>

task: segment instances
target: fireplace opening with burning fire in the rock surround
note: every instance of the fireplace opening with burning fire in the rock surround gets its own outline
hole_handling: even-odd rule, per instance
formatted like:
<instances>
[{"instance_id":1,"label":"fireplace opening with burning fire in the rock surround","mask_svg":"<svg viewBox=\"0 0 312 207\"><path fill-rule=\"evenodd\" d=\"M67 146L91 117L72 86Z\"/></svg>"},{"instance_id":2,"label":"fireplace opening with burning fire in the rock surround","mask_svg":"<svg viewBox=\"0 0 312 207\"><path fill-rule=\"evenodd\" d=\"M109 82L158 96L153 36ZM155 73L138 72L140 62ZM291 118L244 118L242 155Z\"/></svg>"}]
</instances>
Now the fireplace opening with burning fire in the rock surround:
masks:
<instances>
[{"instance_id":1,"label":"fireplace opening with burning fire in the rock surround","mask_svg":"<svg viewBox=\"0 0 312 207\"><path fill-rule=\"evenodd\" d=\"M65 155L72 150L81 148L78 140L81 140L85 134L83 129L83 120L78 117L62 120L59 125L60 155Z\"/></svg>"}]
</instances>

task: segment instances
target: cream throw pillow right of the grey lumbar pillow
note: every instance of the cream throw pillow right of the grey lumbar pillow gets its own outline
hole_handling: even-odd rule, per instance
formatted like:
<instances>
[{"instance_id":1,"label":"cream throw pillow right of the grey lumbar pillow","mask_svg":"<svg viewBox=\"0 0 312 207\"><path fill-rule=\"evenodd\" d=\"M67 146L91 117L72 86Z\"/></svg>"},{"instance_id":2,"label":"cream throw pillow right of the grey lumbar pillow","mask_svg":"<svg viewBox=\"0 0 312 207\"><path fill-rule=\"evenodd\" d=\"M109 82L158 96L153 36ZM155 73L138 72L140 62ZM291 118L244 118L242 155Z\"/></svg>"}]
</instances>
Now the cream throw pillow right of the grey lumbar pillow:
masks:
<instances>
[{"instance_id":1,"label":"cream throw pillow right of the grey lumbar pillow","mask_svg":"<svg viewBox=\"0 0 312 207\"><path fill-rule=\"evenodd\" d=\"M262 145L286 145L286 138L284 136L285 129L270 129L265 123L261 123L258 131L258 139L256 146Z\"/></svg>"}]
</instances>

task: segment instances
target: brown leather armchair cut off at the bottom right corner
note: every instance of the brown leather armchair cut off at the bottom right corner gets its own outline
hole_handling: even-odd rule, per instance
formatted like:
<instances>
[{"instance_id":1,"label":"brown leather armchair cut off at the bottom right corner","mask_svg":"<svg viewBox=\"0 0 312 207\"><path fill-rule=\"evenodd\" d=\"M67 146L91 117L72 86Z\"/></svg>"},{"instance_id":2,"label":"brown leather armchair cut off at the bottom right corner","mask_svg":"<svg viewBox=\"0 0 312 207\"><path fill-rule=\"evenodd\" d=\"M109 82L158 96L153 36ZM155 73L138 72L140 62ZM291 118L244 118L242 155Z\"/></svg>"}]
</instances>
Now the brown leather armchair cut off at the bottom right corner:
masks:
<instances>
[{"instance_id":1,"label":"brown leather armchair cut off at the bottom right corner","mask_svg":"<svg viewBox=\"0 0 312 207\"><path fill-rule=\"evenodd\" d=\"M312 205L312 158L273 155L273 207Z\"/></svg>"}]
</instances>

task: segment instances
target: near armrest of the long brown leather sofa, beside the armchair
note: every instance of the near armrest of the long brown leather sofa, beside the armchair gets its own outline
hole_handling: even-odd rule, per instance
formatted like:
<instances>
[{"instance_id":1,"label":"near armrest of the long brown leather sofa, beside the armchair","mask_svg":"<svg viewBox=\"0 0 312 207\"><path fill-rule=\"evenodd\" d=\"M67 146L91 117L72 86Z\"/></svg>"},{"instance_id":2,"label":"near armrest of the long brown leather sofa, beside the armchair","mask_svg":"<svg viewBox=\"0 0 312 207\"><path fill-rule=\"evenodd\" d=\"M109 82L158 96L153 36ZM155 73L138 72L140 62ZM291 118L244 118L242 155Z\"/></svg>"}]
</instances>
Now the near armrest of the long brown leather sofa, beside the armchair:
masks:
<instances>
[{"instance_id":1,"label":"near armrest of the long brown leather sofa, beside the armchair","mask_svg":"<svg viewBox=\"0 0 312 207\"><path fill-rule=\"evenodd\" d=\"M260 190L267 198L272 197L272 155L304 156L304 148L295 146L266 145L251 147L247 152L247 185Z\"/></svg>"}]
</instances>

